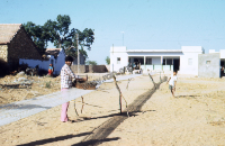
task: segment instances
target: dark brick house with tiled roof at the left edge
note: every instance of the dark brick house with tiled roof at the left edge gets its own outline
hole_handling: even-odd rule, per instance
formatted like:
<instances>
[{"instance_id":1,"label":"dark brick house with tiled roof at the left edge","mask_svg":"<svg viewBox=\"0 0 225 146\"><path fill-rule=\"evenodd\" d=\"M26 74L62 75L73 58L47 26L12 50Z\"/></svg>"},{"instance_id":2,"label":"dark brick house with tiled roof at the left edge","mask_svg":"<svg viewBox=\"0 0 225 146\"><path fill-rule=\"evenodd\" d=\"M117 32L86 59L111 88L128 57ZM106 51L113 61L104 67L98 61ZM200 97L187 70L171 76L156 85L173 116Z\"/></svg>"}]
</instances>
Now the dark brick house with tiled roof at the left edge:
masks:
<instances>
[{"instance_id":1,"label":"dark brick house with tiled roof at the left edge","mask_svg":"<svg viewBox=\"0 0 225 146\"><path fill-rule=\"evenodd\" d=\"M36 45L21 24L0 24L0 58L10 70L19 65L19 59L42 59Z\"/></svg>"}]
</instances>

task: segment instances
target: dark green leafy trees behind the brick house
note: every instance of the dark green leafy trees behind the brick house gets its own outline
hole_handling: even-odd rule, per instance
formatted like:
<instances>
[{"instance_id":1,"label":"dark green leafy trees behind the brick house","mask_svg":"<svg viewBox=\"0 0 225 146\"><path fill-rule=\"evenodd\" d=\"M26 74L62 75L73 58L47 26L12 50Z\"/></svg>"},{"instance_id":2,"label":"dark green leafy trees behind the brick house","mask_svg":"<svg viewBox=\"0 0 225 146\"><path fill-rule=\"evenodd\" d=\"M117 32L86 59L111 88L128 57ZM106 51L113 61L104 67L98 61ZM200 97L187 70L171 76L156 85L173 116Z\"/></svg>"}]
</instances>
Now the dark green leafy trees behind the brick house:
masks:
<instances>
[{"instance_id":1,"label":"dark green leafy trees behind the brick house","mask_svg":"<svg viewBox=\"0 0 225 146\"><path fill-rule=\"evenodd\" d=\"M71 19L68 15L58 15L56 20L47 20L43 25L36 25L33 22L23 24L28 35L32 38L41 53L45 52L48 42L54 43L57 48L63 48L67 55L76 57L76 48L71 50L72 46L80 46L80 53L88 57L87 50L91 50L91 45L94 42L94 30L84 29L82 32L78 29L69 29ZM79 34L79 44L77 45L76 33ZM69 50L67 50L69 49Z\"/></svg>"}]
</instances>

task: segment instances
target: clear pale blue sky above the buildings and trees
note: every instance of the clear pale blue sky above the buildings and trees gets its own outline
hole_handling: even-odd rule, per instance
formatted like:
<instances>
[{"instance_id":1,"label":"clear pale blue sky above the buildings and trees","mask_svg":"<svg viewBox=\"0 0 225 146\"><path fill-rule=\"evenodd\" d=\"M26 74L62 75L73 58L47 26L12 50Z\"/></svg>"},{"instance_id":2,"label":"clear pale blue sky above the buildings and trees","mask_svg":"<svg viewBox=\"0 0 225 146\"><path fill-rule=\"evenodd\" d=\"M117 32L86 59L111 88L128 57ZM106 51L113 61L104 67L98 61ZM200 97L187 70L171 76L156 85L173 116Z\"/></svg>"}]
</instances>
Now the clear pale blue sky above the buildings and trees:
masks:
<instances>
[{"instance_id":1,"label":"clear pale blue sky above the buildings and trees","mask_svg":"<svg viewBox=\"0 0 225 146\"><path fill-rule=\"evenodd\" d=\"M70 16L70 28L94 29L87 53L98 64L106 64L112 45L225 49L225 0L0 0L0 6L0 23L43 25L61 14Z\"/></svg>"}]
</instances>

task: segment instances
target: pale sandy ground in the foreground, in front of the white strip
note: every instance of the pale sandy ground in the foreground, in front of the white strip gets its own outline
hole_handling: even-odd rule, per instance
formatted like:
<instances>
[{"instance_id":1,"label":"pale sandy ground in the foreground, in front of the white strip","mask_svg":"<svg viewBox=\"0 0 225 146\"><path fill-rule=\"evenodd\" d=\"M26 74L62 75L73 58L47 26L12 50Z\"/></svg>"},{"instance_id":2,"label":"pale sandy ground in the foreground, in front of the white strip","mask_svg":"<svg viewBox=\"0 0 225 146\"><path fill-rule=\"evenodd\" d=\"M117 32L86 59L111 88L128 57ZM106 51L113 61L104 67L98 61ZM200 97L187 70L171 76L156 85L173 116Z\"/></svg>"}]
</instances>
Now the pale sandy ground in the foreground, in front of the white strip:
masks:
<instances>
[{"instance_id":1,"label":"pale sandy ground in the foreground, in front of the white strip","mask_svg":"<svg viewBox=\"0 0 225 146\"><path fill-rule=\"evenodd\" d=\"M159 76L154 80L159 82ZM136 116L127 118L107 137L102 146L193 146L225 145L225 82L179 76L176 98L171 98L163 83L143 105ZM119 82L128 104L153 88L148 76L136 77L129 83ZM69 146L79 143L93 130L119 112L119 94L114 83L104 83L100 91L76 100L82 119L76 117L74 101L68 115L78 120L72 124L60 122L61 106L0 127L1 145ZM123 101L123 109L125 102Z\"/></svg>"}]
</instances>

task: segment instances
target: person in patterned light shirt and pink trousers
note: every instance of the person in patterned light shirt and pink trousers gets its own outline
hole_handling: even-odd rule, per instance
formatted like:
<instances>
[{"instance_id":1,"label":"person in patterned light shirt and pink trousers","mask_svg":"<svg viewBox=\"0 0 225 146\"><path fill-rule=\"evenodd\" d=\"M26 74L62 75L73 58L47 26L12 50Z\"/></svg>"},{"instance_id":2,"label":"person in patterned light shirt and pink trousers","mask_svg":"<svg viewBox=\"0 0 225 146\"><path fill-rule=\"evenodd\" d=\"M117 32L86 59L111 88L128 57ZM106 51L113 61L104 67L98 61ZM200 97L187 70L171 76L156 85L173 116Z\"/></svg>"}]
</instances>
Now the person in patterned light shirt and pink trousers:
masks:
<instances>
[{"instance_id":1,"label":"person in patterned light shirt and pink trousers","mask_svg":"<svg viewBox=\"0 0 225 146\"><path fill-rule=\"evenodd\" d=\"M65 93L72 88L72 83L76 80L76 76L70 68L72 62L73 62L73 57L66 56L65 65L61 69L61 91L64 93L63 94L64 96L66 96ZM72 123L72 121L68 119L68 115L67 115L69 103L70 102L66 102L62 104L62 111L61 111L62 122Z\"/></svg>"}]
</instances>

